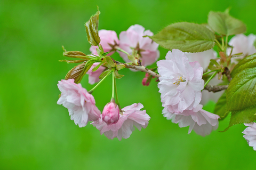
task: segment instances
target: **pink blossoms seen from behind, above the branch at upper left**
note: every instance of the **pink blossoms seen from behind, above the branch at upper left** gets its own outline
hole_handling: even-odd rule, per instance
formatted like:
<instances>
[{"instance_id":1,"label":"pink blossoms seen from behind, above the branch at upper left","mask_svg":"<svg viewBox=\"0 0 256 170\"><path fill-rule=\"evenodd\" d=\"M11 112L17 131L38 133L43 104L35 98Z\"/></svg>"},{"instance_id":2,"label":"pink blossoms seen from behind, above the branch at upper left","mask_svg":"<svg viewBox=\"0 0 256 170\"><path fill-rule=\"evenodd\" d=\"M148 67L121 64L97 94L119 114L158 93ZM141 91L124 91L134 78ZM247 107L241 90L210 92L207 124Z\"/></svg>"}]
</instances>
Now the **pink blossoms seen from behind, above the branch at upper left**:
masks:
<instances>
[{"instance_id":1,"label":"pink blossoms seen from behind, above the branch at upper left","mask_svg":"<svg viewBox=\"0 0 256 170\"><path fill-rule=\"evenodd\" d=\"M144 27L140 25L134 25L127 29L127 31L122 31L119 35L113 30L99 30L99 36L101 39L101 45L105 52L109 51L108 55L114 54L114 52L121 48L122 51L125 51L129 54L132 54L132 50L136 50L140 57L142 66L149 66L157 61L159 58L158 44L152 41L149 37L143 36L152 36L153 33L150 30L145 30ZM92 54L97 55L98 46L91 46L90 51ZM117 51L119 55L123 58L125 62L132 62L129 60L127 53L122 51ZM99 63L94 63L93 66L97 66ZM100 66L100 69L92 72L90 69L87 74L89 75L89 83L94 84L99 82L99 75L105 70L105 67Z\"/></svg>"}]
</instances>

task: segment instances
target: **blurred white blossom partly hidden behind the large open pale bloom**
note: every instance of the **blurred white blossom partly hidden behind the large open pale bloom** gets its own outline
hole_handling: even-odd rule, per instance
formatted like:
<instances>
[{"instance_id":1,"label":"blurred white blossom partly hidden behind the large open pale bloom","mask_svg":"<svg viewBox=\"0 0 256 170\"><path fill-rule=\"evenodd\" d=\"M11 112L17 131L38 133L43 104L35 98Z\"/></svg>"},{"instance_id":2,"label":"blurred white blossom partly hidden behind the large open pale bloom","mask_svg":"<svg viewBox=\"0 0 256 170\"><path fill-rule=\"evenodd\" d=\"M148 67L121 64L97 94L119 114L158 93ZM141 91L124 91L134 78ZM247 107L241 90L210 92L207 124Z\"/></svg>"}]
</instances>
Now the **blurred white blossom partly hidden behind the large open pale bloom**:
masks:
<instances>
[{"instance_id":1,"label":"blurred white blossom partly hidden behind the large open pale bloom","mask_svg":"<svg viewBox=\"0 0 256 170\"><path fill-rule=\"evenodd\" d=\"M200 66L203 67L203 69L206 71L210 60L211 59L216 59L217 58L217 52L215 52L213 49L211 50L206 50L203 52L199 52L199 53L185 53L185 55L188 57L189 62L199 62ZM221 83L222 81L218 79L217 76L215 76L210 84L211 85L217 85L219 83ZM213 93L213 92L208 92L206 90L202 91L202 100L201 100L201 104L205 104L207 103L209 100L212 100L214 102L217 102L218 99L220 98L220 96L222 95L223 92L217 92L217 93Z\"/></svg>"}]
</instances>

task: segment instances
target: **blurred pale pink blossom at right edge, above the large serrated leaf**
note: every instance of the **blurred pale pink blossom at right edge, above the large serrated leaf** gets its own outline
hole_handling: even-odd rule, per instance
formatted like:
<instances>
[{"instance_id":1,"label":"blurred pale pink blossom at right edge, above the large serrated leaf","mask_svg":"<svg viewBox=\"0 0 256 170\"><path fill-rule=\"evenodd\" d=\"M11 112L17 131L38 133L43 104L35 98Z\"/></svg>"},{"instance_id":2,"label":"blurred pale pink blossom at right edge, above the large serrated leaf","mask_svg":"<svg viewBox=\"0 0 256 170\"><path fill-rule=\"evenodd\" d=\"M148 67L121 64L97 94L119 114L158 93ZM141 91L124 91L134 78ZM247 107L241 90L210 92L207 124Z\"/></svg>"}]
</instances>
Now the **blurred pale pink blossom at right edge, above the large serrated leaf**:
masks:
<instances>
[{"instance_id":1,"label":"blurred pale pink blossom at right edge, above the large serrated leaf","mask_svg":"<svg viewBox=\"0 0 256 170\"><path fill-rule=\"evenodd\" d=\"M250 34L249 36L246 36L244 34L238 34L232 37L229 41L229 45L233 46L233 54L237 53L243 53L243 56L236 57L234 59L243 59L247 55L251 55L256 53L256 48L253 45L254 41L256 39L256 35ZM231 52L231 48L228 48L227 55L229 55Z\"/></svg>"}]
</instances>

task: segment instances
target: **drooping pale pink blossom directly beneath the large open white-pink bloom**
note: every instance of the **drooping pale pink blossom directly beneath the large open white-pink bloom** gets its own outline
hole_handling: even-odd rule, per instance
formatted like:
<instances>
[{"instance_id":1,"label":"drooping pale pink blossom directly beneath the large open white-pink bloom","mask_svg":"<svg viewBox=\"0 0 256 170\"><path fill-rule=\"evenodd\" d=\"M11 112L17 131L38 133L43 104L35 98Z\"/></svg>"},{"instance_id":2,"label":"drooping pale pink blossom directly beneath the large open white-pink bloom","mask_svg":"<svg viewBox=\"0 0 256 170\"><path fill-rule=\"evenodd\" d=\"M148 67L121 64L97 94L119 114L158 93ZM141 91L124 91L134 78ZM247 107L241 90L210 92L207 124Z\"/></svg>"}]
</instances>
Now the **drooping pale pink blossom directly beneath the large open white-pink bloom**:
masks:
<instances>
[{"instance_id":1,"label":"drooping pale pink blossom directly beneath the large open white-pink bloom","mask_svg":"<svg viewBox=\"0 0 256 170\"><path fill-rule=\"evenodd\" d=\"M199 104L193 110L184 110L182 114L171 113L166 107L163 109L163 115L173 123L179 123L179 127L189 126L188 134L192 129L201 136L209 135L213 130L218 128L220 118L218 115L212 114L202 109Z\"/></svg>"}]
</instances>

